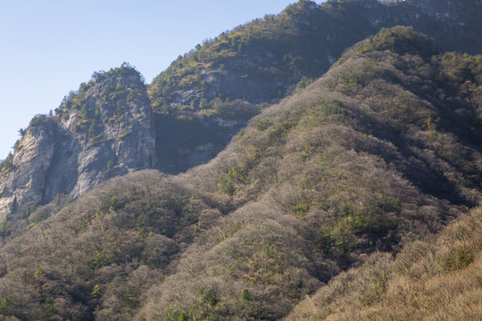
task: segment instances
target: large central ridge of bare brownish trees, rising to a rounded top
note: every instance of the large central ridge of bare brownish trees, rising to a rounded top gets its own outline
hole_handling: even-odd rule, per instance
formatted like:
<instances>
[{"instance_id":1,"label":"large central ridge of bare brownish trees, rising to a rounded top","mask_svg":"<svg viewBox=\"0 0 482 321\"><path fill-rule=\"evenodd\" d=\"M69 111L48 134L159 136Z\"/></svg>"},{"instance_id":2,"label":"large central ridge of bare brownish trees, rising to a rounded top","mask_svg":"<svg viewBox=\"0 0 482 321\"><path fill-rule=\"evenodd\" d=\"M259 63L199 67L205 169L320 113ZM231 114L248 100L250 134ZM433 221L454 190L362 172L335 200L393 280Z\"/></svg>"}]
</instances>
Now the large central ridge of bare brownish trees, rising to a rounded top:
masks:
<instances>
[{"instance_id":1,"label":"large central ridge of bare brownish trees, rising to a rounded top","mask_svg":"<svg viewBox=\"0 0 482 321\"><path fill-rule=\"evenodd\" d=\"M195 169L199 188L231 195L236 210L182 255L139 316L279 319L364 253L397 251L464 210L455 204L477 204L480 136L465 128L480 126L482 61L433 48L411 29L382 30ZM461 86L447 77L459 63L474 63L464 99L445 90Z\"/></svg>"}]
</instances>

